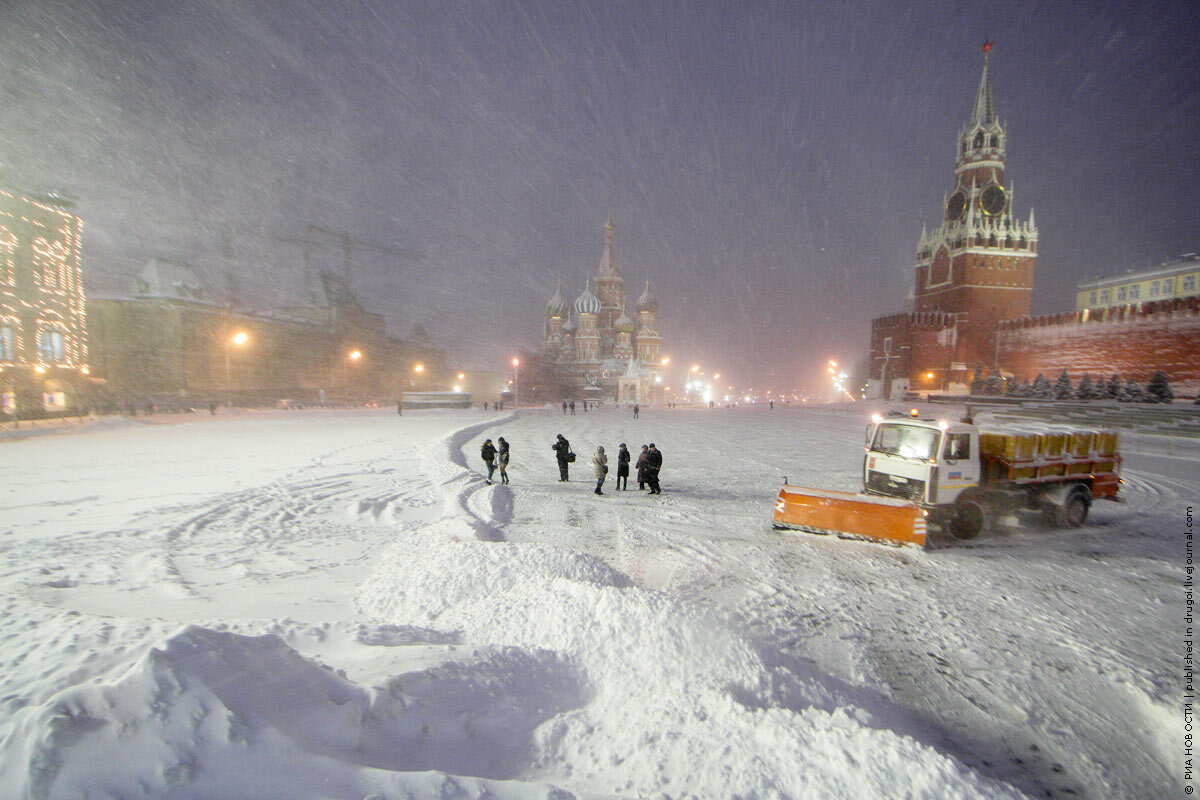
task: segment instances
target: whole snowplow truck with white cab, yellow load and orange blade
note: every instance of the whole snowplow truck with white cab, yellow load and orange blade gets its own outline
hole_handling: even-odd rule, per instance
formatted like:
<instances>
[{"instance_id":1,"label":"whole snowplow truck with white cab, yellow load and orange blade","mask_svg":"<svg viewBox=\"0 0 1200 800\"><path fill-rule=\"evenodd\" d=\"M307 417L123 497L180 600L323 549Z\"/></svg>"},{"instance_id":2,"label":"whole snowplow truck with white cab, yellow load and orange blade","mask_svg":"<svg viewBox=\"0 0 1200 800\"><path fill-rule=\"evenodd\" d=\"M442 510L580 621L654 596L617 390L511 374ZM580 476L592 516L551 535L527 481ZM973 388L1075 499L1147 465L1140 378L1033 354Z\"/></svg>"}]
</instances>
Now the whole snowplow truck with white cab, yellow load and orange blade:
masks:
<instances>
[{"instance_id":1,"label":"whole snowplow truck with white cab, yellow load and orange blade","mask_svg":"<svg viewBox=\"0 0 1200 800\"><path fill-rule=\"evenodd\" d=\"M1117 499L1117 444L1115 431L876 416L866 427L862 492L785 479L774 527L917 547L926 522L972 539L991 519L1022 510L1079 528L1093 500Z\"/></svg>"}]
</instances>

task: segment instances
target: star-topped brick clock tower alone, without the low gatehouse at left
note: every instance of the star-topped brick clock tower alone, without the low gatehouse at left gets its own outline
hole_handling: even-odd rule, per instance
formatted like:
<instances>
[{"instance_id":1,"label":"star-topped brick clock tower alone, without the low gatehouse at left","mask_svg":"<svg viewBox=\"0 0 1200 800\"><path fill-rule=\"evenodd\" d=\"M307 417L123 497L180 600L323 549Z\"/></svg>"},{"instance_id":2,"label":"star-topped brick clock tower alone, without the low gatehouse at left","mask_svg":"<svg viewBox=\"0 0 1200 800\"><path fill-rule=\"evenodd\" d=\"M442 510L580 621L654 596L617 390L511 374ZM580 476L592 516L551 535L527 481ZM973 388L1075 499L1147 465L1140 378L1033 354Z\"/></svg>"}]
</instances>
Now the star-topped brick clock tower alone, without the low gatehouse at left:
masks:
<instances>
[{"instance_id":1,"label":"star-topped brick clock tower alone, without the low gatehouse at left","mask_svg":"<svg viewBox=\"0 0 1200 800\"><path fill-rule=\"evenodd\" d=\"M968 381L977 365L995 366L996 323L1028 317L1033 299L1037 225L1032 209L1026 221L1013 213L1013 184L1004 175L1008 134L988 73L992 43L982 49L983 76L956 143L954 188L941 224L922 230L917 245L913 311L943 312L955 320L949 362L936 365L943 385Z\"/></svg>"}]
</instances>

